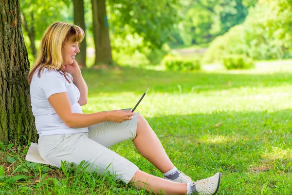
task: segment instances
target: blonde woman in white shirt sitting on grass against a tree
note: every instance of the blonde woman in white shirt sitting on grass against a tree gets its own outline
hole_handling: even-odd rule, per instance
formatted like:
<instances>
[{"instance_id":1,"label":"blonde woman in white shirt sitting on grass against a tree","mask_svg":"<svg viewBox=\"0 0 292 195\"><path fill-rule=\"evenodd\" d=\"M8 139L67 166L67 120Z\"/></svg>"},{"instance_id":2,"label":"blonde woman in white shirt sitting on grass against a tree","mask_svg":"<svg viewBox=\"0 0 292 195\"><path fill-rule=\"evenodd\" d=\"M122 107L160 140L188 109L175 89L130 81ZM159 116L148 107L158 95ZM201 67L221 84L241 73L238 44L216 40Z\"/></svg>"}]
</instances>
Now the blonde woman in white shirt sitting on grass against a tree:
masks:
<instances>
[{"instance_id":1,"label":"blonde woman in white shirt sitting on grass against a tree","mask_svg":"<svg viewBox=\"0 0 292 195\"><path fill-rule=\"evenodd\" d=\"M220 173L193 182L170 161L148 122L138 113L113 110L82 114L88 88L75 56L84 31L75 25L55 22L45 31L40 51L28 81L32 111L39 134L40 156L60 167L61 160L87 167L102 174L109 171L116 179L152 193L168 195L213 195L217 193ZM139 153L164 175L146 174L126 158L108 149L132 139ZM146 183L146 184L145 184Z\"/></svg>"}]
</instances>

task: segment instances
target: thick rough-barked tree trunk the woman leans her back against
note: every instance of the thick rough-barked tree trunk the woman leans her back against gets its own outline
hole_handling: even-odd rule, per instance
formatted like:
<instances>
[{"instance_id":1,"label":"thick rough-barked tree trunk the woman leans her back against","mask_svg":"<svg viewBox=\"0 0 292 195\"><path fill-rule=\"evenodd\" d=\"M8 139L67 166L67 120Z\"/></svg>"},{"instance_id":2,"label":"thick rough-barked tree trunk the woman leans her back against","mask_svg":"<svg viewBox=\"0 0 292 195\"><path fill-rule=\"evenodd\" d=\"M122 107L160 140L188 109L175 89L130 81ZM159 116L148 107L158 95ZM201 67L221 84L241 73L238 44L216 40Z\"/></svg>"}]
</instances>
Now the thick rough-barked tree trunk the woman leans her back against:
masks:
<instances>
[{"instance_id":1,"label":"thick rough-barked tree trunk the woman leans her back against","mask_svg":"<svg viewBox=\"0 0 292 195\"><path fill-rule=\"evenodd\" d=\"M19 0L0 0L0 141L37 141Z\"/></svg>"}]
</instances>

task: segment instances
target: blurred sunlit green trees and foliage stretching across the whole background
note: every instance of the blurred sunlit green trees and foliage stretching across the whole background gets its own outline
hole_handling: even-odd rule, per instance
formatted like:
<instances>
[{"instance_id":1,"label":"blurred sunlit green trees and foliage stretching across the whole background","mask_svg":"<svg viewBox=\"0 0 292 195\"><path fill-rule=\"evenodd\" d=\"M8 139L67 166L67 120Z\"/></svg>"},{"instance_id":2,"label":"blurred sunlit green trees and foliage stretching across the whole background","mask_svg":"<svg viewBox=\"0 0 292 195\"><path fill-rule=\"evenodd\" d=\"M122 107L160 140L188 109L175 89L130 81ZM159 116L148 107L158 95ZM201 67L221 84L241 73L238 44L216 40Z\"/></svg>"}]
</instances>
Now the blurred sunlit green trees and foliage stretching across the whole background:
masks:
<instances>
[{"instance_id":1,"label":"blurred sunlit green trees and foliage stretching across the whole background","mask_svg":"<svg viewBox=\"0 0 292 195\"><path fill-rule=\"evenodd\" d=\"M157 65L173 49L186 47L207 47L199 56L204 64L221 63L230 54L252 59L292 55L291 0L98 0L106 10L100 16L92 12L91 0L83 3L84 19L77 22L74 13L80 8L73 9L71 0L20 1L31 62L45 28L56 20L75 24L85 20L87 41L82 50L87 53L82 64L87 66L112 61ZM92 18L98 17L102 23L94 27ZM103 37L97 40L99 35ZM103 43L105 39L110 41Z\"/></svg>"}]
</instances>

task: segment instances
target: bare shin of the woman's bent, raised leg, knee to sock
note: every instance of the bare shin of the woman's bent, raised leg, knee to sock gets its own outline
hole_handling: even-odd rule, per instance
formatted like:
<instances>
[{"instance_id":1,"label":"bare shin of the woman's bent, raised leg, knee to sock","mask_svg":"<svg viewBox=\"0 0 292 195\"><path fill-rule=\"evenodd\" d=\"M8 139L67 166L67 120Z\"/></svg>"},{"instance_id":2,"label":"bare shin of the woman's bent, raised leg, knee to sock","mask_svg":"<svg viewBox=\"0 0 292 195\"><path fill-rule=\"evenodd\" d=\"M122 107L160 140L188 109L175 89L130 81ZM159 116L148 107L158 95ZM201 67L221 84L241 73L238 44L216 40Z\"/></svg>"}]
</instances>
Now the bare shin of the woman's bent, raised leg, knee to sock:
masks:
<instances>
[{"instance_id":1,"label":"bare shin of the woman's bent, raised leg, knee to sock","mask_svg":"<svg viewBox=\"0 0 292 195\"><path fill-rule=\"evenodd\" d=\"M162 173L174 168L159 138L142 115L138 116L137 132L133 143L139 153Z\"/></svg>"}]
</instances>

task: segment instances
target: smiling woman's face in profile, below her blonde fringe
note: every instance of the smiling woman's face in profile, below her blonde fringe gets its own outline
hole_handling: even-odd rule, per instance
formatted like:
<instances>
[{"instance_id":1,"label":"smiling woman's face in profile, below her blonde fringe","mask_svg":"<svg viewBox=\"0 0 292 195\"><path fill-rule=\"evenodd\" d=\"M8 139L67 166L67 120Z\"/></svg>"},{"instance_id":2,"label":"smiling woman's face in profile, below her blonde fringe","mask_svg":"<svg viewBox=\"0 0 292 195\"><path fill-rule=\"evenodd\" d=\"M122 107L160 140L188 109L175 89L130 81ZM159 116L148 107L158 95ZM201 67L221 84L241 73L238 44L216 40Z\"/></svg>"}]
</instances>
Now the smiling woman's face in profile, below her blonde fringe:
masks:
<instances>
[{"instance_id":1,"label":"smiling woman's face in profile, below her blonde fringe","mask_svg":"<svg viewBox=\"0 0 292 195\"><path fill-rule=\"evenodd\" d=\"M75 56L79 53L78 43L66 41L65 45L62 47L62 57L63 57L63 65L72 64Z\"/></svg>"}]
</instances>

